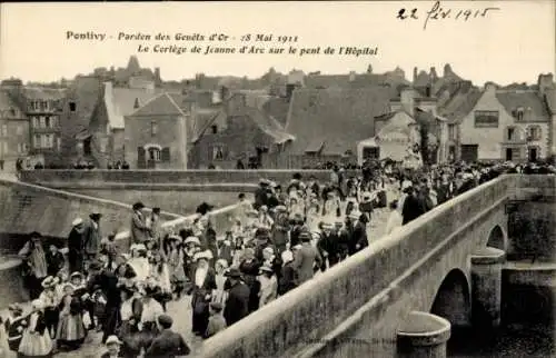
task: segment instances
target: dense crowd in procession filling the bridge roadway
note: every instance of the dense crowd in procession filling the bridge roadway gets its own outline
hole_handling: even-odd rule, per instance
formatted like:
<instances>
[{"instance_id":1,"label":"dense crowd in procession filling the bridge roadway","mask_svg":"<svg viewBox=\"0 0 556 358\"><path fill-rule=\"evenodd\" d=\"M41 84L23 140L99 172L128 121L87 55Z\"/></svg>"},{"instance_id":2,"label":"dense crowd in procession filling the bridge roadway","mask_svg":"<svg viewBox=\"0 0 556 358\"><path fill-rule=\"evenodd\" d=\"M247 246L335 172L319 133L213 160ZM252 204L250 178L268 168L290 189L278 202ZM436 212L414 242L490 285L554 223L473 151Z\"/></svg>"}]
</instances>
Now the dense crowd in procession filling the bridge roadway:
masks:
<instances>
[{"instance_id":1,"label":"dense crowd in procession filling the bridge roadway","mask_svg":"<svg viewBox=\"0 0 556 358\"><path fill-rule=\"evenodd\" d=\"M160 208L137 202L128 252L92 212L72 222L62 250L47 250L41 235L30 233L20 256L32 308L23 315L10 306L9 347L21 357L48 357L78 349L98 330L107 357L187 355L168 302L189 296L191 330L209 338L457 195L503 172L545 171L554 167L377 163L357 176L335 167L327 182L299 173L286 183L262 179L252 201L239 195L224 232L207 203L173 231L162 226ZM369 223L379 208L390 212L385 232L375 235Z\"/></svg>"}]
</instances>

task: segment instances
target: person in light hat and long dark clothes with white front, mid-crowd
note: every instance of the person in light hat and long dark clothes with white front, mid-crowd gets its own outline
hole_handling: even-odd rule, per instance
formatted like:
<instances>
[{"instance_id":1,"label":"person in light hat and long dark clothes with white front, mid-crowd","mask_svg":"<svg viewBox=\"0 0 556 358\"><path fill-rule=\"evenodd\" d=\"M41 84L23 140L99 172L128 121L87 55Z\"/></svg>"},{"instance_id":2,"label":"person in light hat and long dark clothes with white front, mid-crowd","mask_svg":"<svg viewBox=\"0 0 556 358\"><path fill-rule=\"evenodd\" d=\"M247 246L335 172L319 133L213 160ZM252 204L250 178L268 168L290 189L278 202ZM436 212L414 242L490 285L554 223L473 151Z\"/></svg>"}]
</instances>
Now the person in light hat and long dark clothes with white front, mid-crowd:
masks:
<instances>
[{"instance_id":1,"label":"person in light hat and long dark clothes with white front, mid-crowd","mask_svg":"<svg viewBox=\"0 0 556 358\"><path fill-rule=\"evenodd\" d=\"M202 336L207 330L209 309L208 305L212 298L212 290L217 289L215 270L209 266L212 259L212 252L205 250L198 252L195 257L196 269L193 274L193 287L191 296L192 331L197 336Z\"/></svg>"}]
</instances>

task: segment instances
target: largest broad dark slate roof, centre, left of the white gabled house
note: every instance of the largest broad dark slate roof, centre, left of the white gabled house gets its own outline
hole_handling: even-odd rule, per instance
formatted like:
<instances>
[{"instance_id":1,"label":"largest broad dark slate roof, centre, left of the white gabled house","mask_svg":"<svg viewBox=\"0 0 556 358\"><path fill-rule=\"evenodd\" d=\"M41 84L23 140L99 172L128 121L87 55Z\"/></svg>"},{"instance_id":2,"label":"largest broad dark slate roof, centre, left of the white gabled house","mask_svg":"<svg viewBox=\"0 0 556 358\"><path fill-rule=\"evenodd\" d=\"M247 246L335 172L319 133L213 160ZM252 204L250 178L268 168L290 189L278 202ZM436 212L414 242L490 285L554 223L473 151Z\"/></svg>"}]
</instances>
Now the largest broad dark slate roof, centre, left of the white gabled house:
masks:
<instances>
[{"instance_id":1,"label":"largest broad dark slate roof, centre, left of the white gabled house","mask_svg":"<svg viewBox=\"0 0 556 358\"><path fill-rule=\"evenodd\" d=\"M296 137L290 153L305 153L314 140L325 142L325 155L356 152L358 141L375 135L374 117L389 112L388 97L380 87L295 90L285 128Z\"/></svg>"}]
</instances>

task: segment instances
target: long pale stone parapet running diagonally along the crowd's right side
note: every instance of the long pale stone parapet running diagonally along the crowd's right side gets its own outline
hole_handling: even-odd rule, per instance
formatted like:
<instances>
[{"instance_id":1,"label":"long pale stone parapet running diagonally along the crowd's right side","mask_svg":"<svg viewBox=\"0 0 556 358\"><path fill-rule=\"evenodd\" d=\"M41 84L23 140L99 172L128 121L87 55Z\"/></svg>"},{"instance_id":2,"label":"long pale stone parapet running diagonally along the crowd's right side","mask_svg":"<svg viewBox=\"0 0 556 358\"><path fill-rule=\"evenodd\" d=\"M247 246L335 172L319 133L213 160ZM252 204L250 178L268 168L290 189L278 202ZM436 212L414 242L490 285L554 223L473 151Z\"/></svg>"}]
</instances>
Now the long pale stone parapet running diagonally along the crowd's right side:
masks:
<instances>
[{"instance_id":1,"label":"long pale stone parapet running diagonally along the crowd's right side","mask_svg":"<svg viewBox=\"0 0 556 358\"><path fill-rule=\"evenodd\" d=\"M378 308L395 300L403 294L399 280L423 268L443 241L461 239L463 228L499 206L514 187L515 178L499 177L375 240L207 340L203 356L294 357L308 349L369 301Z\"/></svg>"}]
</instances>

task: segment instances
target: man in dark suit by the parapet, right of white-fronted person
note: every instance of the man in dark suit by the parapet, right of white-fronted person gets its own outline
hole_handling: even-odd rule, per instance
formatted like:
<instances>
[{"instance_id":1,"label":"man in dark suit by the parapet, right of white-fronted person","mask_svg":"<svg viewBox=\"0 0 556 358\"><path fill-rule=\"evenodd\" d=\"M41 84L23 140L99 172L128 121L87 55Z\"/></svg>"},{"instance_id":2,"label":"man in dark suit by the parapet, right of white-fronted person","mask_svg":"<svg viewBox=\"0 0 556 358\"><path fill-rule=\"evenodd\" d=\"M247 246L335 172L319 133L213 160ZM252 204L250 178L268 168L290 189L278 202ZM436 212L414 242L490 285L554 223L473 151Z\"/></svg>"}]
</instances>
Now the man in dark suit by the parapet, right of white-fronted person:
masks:
<instances>
[{"instance_id":1,"label":"man in dark suit by the parapet, right of white-fronted person","mask_svg":"<svg viewBox=\"0 0 556 358\"><path fill-rule=\"evenodd\" d=\"M228 299L224 309L226 325L230 327L241 318L249 315L249 287L241 281L241 272L232 267L226 274L228 276Z\"/></svg>"}]
</instances>

